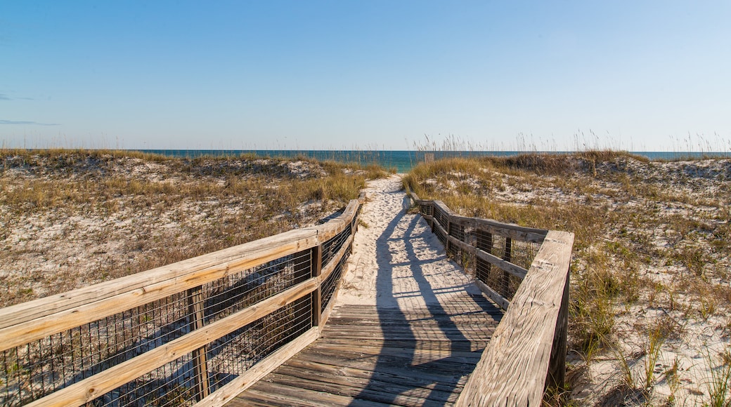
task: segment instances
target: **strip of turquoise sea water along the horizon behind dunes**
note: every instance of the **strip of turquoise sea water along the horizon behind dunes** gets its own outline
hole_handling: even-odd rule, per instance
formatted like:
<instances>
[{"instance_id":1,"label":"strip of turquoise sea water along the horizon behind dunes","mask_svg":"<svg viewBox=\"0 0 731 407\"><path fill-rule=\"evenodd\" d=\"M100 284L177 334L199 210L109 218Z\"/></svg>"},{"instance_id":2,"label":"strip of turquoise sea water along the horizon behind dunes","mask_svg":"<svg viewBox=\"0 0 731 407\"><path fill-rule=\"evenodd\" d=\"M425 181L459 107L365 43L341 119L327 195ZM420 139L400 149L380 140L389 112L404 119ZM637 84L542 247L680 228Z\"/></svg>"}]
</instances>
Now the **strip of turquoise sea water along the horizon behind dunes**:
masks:
<instances>
[{"instance_id":1,"label":"strip of turquoise sea water along the horizon behind dunes","mask_svg":"<svg viewBox=\"0 0 731 407\"><path fill-rule=\"evenodd\" d=\"M385 168L395 168L397 172L409 172L417 163L424 160L423 151L406 150L135 150L168 155L171 157L197 158L202 155L226 156L255 154L261 157L308 157L317 160L334 160L341 163L361 165L377 164ZM488 155L506 157L525 154L524 151L436 151L431 152L435 159L447 157L485 157ZM562 154L567 152L549 152ZM706 156L731 157L731 152L632 152L651 160L675 160L678 158L702 158Z\"/></svg>"}]
</instances>

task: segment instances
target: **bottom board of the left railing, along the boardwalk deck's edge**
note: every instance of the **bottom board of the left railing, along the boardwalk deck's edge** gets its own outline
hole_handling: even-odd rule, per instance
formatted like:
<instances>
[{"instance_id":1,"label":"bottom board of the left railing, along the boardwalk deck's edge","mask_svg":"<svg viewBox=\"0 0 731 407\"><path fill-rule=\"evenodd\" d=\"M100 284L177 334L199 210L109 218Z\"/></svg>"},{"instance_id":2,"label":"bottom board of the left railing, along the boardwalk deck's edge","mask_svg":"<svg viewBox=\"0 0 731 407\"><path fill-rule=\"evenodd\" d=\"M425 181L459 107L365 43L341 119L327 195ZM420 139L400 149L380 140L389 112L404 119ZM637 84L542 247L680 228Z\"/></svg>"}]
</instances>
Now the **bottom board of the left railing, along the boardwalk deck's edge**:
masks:
<instances>
[{"instance_id":1,"label":"bottom board of the left railing, along the boardwalk deck's edge","mask_svg":"<svg viewBox=\"0 0 731 407\"><path fill-rule=\"evenodd\" d=\"M233 400L233 398L235 398L240 392L251 387L257 381L262 379L262 377L274 371L274 369L279 367L279 365L289 360L290 357L294 356L315 341L317 339L317 334L318 328L312 327L294 341L289 342L289 344L282 346L280 349L277 349L276 352L262 359L245 373L240 374L237 378L225 384L224 387L221 387L216 390L216 392L208 395L208 397L200 400L196 406L222 406L230 400Z\"/></svg>"}]
</instances>

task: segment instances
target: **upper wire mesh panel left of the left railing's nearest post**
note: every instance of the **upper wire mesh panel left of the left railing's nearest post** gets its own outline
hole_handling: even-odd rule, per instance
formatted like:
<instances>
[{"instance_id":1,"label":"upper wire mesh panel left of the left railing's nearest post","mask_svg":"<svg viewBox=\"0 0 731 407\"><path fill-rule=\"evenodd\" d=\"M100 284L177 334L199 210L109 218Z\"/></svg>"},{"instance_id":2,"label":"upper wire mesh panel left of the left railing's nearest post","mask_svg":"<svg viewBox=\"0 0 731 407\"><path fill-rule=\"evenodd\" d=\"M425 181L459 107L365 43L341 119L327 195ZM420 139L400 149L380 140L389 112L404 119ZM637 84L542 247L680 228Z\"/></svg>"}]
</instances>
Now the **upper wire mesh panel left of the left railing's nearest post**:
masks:
<instances>
[{"instance_id":1,"label":"upper wire mesh panel left of the left railing's nearest post","mask_svg":"<svg viewBox=\"0 0 731 407\"><path fill-rule=\"evenodd\" d=\"M1 352L0 405L37 400L189 332L178 293Z\"/></svg>"}]
</instances>

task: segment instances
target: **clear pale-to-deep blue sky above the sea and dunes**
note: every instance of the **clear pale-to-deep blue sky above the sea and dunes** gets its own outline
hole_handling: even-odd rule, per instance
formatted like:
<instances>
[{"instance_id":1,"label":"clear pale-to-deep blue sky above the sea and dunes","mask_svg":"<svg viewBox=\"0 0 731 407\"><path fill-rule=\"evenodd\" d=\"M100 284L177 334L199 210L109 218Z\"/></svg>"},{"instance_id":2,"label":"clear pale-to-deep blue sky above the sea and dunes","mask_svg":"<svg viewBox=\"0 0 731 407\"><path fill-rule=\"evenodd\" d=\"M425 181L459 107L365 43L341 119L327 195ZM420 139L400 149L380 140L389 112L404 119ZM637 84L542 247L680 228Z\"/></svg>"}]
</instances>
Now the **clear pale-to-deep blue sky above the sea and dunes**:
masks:
<instances>
[{"instance_id":1,"label":"clear pale-to-deep blue sky above the sea and dunes","mask_svg":"<svg viewBox=\"0 0 731 407\"><path fill-rule=\"evenodd\" d=\"M0 0L5 147L405 150L425 134L729 150L731 1Z\"/></svg>"}]
</instances>

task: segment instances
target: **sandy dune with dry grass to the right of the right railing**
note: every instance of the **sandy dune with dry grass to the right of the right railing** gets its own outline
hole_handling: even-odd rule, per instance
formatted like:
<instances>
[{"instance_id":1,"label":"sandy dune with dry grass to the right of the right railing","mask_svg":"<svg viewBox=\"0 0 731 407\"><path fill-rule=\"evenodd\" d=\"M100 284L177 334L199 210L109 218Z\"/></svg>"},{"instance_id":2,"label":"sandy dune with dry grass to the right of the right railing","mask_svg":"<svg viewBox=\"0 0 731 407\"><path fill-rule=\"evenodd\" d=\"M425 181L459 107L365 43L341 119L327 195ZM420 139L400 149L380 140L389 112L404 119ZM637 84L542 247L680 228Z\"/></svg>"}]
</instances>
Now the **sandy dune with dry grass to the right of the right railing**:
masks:
<instances>
[{"instance_id":1,"label":"sandy dune with dry grass to the right of the right railing","mask_svg":"<svg viewBox=\"0 0 731 407\"><path fill-rule=\"evenodd\" d=\"M620 396L716 405L699 341L731 336L730 181L728 159L612 151L452 158L404 179L466 216L576 233L569 376L580 403L607 405Z\"/></svg>"}]
</instances>

